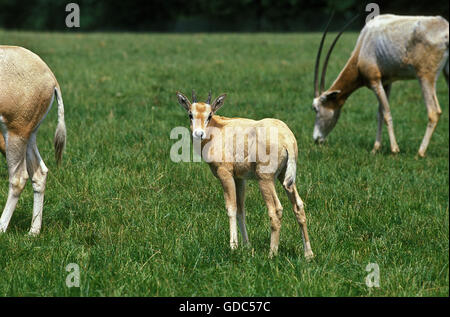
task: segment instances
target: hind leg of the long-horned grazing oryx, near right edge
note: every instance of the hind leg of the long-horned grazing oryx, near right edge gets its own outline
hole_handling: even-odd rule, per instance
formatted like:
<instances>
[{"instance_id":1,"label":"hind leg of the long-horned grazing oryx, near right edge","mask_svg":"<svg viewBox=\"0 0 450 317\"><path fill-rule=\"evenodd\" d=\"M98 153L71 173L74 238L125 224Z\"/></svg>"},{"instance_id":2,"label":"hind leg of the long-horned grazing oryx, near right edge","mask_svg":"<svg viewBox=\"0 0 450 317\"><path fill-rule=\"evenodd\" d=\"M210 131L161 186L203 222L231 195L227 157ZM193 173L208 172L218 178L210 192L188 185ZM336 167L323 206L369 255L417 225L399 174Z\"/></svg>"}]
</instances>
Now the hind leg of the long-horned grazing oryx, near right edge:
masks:
<instances>
[{"instance_id":1,"label":"hind leg of the long-horned grazing oryx, near right edge","mask_svg":"<svg viewBox=\"0 0 450 317\"><path fill-rule=\"evenodd\" d=\"M424 157L442 110L436 97L435 80L421 77L419 78L419 82L422 87L422 94L428 112L428 125L418 152L420 157Z\"/></svg>"}]
</instances>

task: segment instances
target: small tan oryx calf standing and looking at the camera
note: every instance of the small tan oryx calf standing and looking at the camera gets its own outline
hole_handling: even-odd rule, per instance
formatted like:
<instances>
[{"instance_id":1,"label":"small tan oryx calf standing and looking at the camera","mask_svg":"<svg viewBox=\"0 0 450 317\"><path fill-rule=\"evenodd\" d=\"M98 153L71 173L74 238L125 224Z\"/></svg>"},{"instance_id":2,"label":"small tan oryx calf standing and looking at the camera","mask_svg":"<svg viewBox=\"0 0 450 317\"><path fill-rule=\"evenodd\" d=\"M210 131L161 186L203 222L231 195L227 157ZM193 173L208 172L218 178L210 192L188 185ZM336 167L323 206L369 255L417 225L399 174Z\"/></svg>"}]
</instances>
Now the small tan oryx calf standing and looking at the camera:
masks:
<instances>
[{"instance_id":1,"label":"small tan oryx calf standing and looking at the camera","mask_svg":"<svg viewBox=\"0 0 450 317\"><path fill-rule=\"evenodd\" d=\"M186 109L191 121L193 141L201 147L202 156L222 183L225 205L230 221L230 247L238 246L236 216L244 244L248 244L245 226L245 182L256 179L266 202L271 227L270 256L278 251L283 207L275 190L275 180L282 183L300 225L305 257L313 257L306 227L303 201L295 186L297 141L287 125L276 119L254 121L215 115L223 106L226 95L211 103L193 103L177 92L178 102ZM268 137L270 133L270 137Z\"/></svg>"}]
</instances>

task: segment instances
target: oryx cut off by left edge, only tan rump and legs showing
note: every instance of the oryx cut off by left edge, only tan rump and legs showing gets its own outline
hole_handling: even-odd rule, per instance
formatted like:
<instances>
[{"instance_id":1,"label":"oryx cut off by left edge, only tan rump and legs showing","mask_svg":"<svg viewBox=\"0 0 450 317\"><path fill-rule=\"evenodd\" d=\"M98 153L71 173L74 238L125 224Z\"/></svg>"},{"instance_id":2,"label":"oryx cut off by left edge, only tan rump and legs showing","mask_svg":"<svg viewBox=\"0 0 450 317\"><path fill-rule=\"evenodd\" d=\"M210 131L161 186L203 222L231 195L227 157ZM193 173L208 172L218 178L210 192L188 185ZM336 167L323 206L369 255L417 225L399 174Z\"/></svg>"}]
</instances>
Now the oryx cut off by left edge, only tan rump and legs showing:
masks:
<instances>
[{"instance_id":1,"label":"oryx cut off by left edge, only tan rump and legs showing","mask_svg":"<svg viewBox=\"0 0 450 317\"><path fill-rule=\"evenodd\" d=\"M0 232L6 231L26 181L31 178L34 204L30 234L39 234L48 170L39 154L36 134L55 96L58 125L54 146L59 163L66 143L66 126L55 76L34 53L21 47L0 46L0 150L6 156L9 173L8 200L0 218Z\"/></svg>"}]
</instances>

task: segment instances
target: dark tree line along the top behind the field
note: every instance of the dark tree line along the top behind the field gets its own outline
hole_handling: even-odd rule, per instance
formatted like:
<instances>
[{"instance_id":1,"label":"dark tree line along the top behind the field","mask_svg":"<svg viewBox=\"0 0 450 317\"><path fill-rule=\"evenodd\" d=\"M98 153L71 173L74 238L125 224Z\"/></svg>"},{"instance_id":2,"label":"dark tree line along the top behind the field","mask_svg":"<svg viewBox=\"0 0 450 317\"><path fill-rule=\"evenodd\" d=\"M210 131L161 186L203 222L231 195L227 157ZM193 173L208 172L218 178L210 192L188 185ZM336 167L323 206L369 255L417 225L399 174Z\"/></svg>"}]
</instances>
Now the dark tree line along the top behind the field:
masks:
<instances>
[{"instance_id":1,"label":"dark tree line along the top behind the field","mask_svg":"<svg viewBox=\"0 0 450 317\"><path fill-rule=\"evenodd\" d=\"M70 2L80 6L78 31L318 31L331 11L336 29L357 13L369 14L370 2L380 13L449 15L448 0L0 0L0 28L64 30ZM359 22L353 28L364 18Z\"/></svg>"}]
</instances>

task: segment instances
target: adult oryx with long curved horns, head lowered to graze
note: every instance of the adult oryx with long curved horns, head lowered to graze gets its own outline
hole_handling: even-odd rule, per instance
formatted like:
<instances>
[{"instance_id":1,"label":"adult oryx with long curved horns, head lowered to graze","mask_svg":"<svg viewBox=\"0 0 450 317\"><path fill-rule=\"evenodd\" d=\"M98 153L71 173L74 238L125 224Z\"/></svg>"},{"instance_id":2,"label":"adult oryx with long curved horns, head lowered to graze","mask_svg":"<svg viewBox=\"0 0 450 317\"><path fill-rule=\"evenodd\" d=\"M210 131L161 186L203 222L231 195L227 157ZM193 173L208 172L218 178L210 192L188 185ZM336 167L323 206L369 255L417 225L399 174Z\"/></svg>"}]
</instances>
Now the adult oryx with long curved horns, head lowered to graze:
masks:
<instances>
[{"instance_id":1,"label":"adult oryx with long curved horns, head lowered to graze","mask_svg":"<svg viewBox=\"0 0 450 317\"><path fill-rule=\"evenodd\" d=\"M373 153L381 147L383 119L389 132L392 153L399 152L389 108L392 82L418 78L428 111L428 126L418 155L425 156L431 135L441 114L436 98L436 80L448 61L448 22L442 17L379 15L362 29L347 64L331 87L324 91L325 73L330 54L341 31L325 58L320 90L318 72L320 54L328 26L320 42L314 73L313 109L316 122L313 137L322 142L334 128L346 99L358 88L372 89L379 102L378 131ZM444 69L448 82L448 66Z\"/></svg>"}]
</instances>

